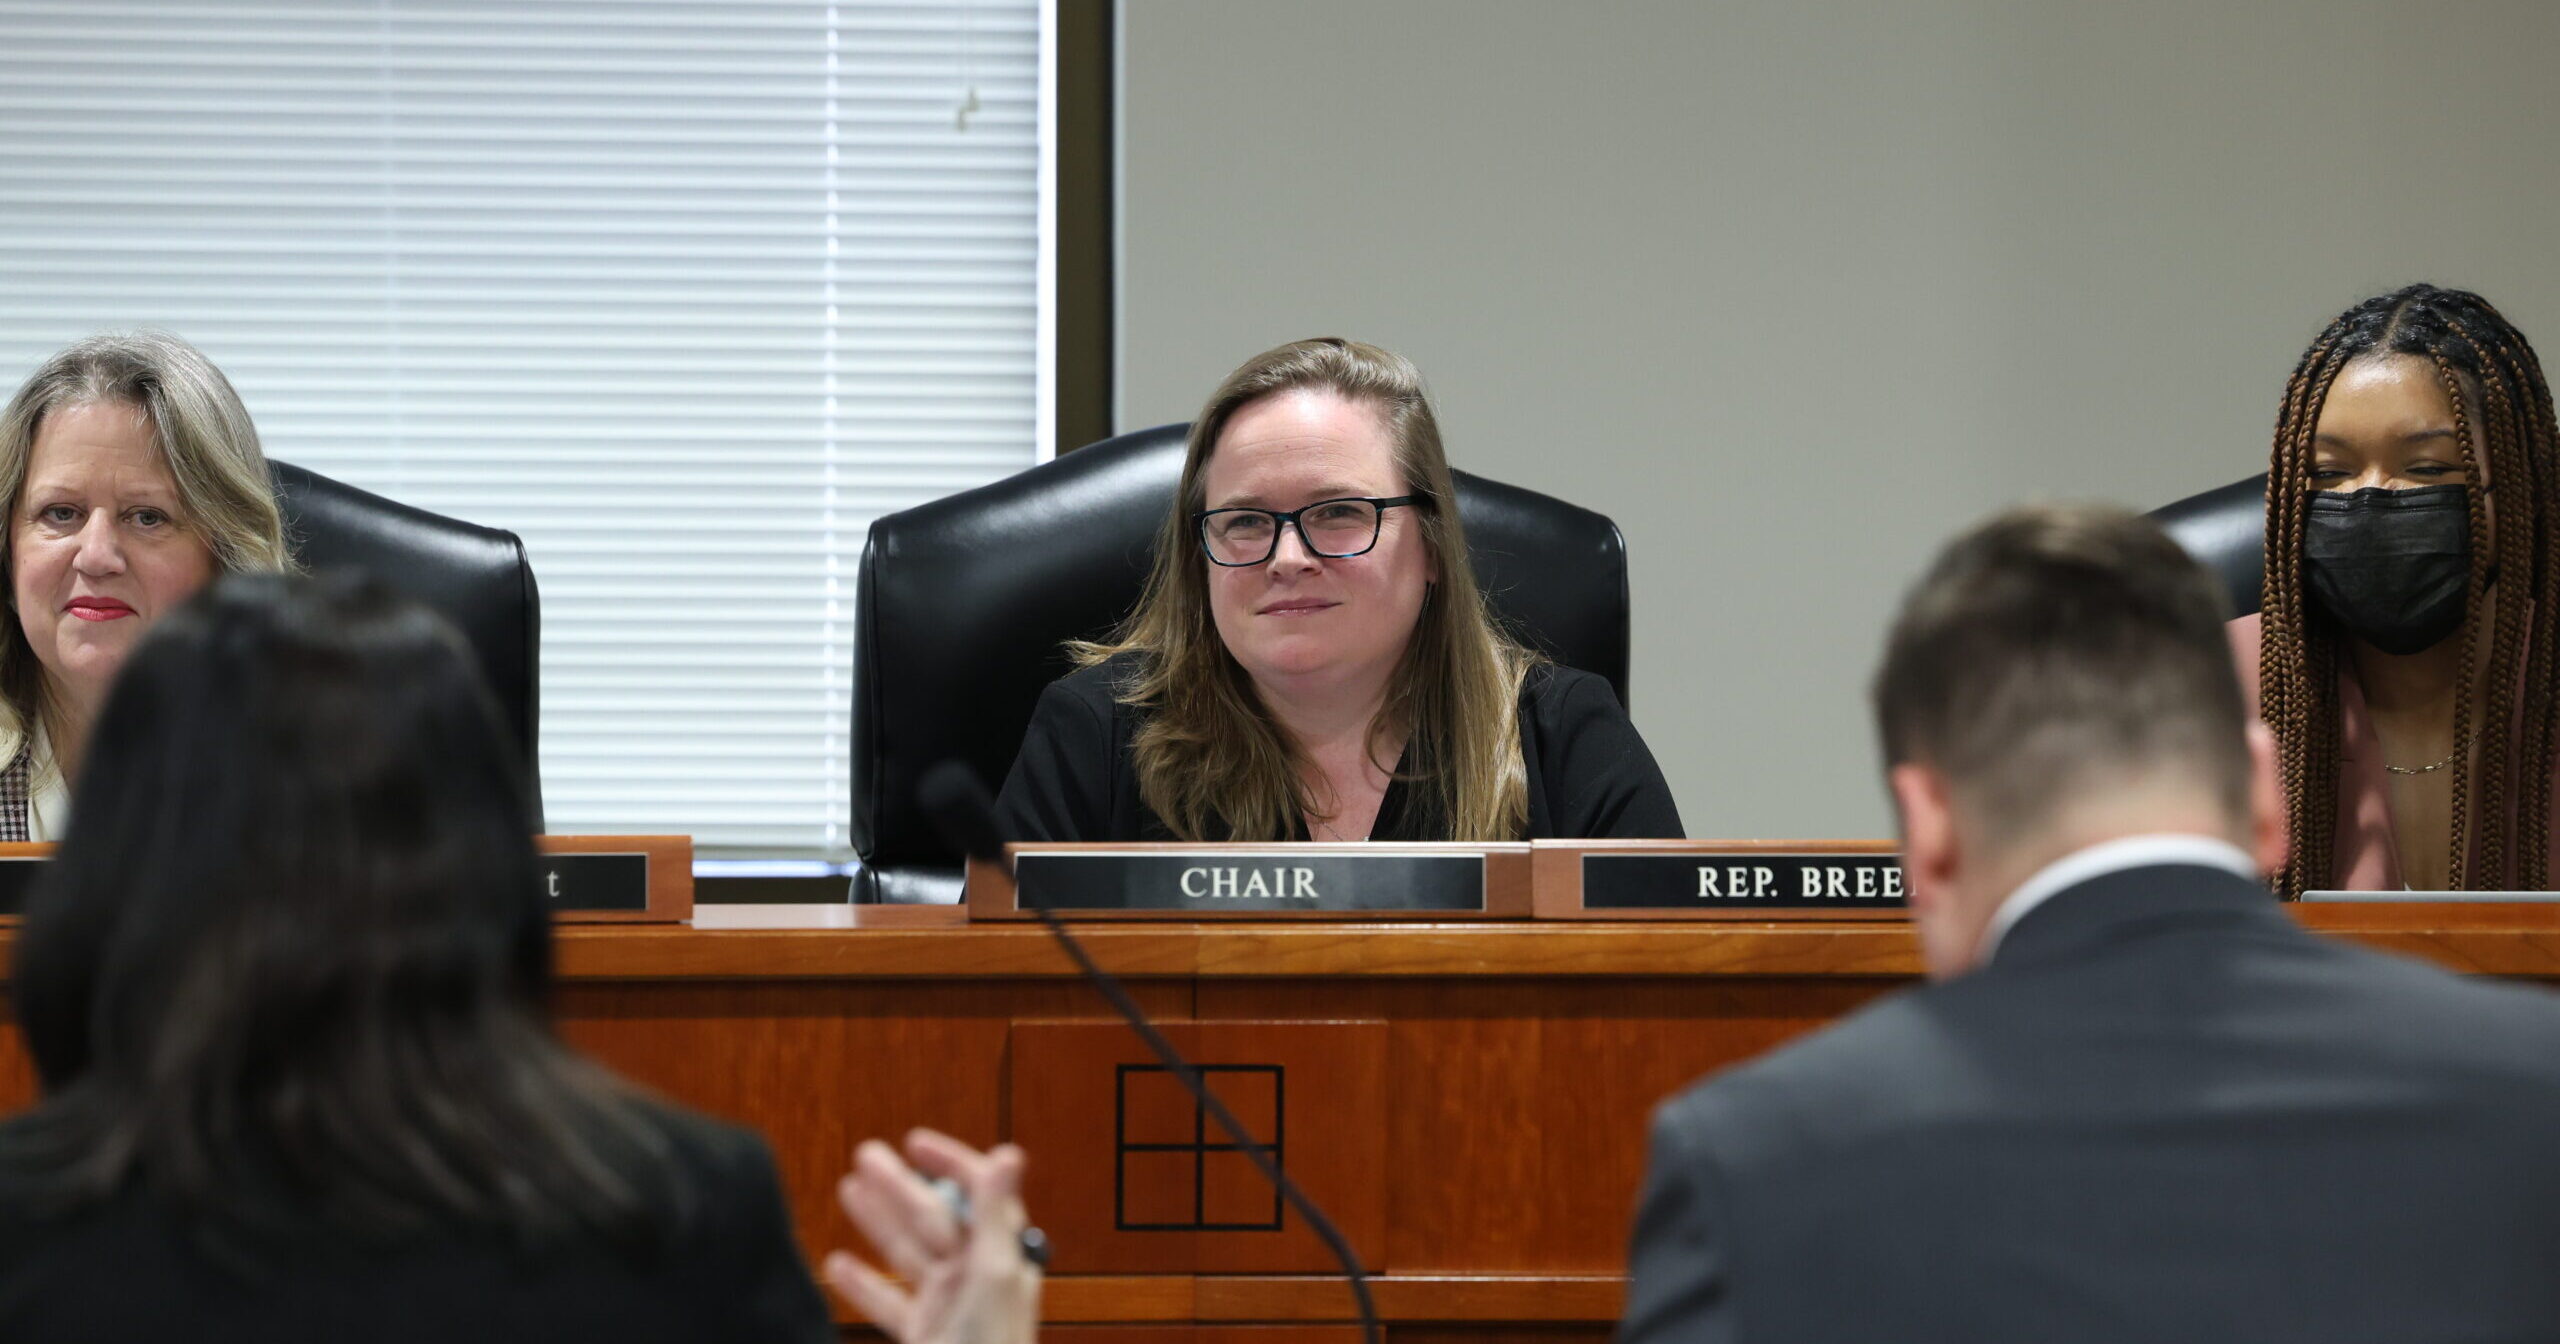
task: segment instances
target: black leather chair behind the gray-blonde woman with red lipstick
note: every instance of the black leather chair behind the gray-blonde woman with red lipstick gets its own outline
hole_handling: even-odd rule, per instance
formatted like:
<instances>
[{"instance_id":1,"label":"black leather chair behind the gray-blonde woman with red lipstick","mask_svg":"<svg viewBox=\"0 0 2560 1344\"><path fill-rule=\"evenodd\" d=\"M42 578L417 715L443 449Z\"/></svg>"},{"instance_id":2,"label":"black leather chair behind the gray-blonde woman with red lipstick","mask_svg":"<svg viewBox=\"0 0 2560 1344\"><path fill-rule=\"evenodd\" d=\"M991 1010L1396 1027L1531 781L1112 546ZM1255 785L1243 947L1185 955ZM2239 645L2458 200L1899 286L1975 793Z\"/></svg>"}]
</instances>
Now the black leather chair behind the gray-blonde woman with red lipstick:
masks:
<instances>
[{"instance_id":1,"label":"black leather chair behind the gray-blonde woman with red lipstick","mask_svg":"<svg viewBox=\"0 0 2560 1344\"><path fill-rule=\"evenodd\" d=\"M284 540L305 568L356 568L451 620L525 758L532 829L543 829L543 768L535 750L543 691L543 599L515 532L479 527L269 461Z\"/></svg>"}]
</instances>

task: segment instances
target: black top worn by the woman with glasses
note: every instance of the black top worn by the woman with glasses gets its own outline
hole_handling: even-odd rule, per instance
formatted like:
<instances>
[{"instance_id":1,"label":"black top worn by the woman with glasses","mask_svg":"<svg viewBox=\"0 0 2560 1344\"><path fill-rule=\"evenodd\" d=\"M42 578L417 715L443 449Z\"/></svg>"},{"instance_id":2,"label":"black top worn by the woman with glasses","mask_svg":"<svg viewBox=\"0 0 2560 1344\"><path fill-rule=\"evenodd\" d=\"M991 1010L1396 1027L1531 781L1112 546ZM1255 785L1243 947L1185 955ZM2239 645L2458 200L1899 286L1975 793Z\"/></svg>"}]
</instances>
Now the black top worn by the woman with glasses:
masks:
<instances>
[{"instance_id":1,"label":"black top worn by the woman with glasses","mask_svg":"<svg viewBox=\"0 0 2560 1344\"><path fill-rule=\"evenodd\" d=\"M1021 755L996 796L1004 840L1172 840L1137 796L1129 748L1144 712L1119 701L1134 658L1052 681L1032 709ZM1679 809L1608 681L1544 663L1521 684L1528 835L1679 840ZM1400 760L1398 776L1416 760ZM1449 840L1449 822L1398 778L1377 801L1372 840ZM1293 840L1306 840L1300 824Z\"/></svg>"}]
</instances>

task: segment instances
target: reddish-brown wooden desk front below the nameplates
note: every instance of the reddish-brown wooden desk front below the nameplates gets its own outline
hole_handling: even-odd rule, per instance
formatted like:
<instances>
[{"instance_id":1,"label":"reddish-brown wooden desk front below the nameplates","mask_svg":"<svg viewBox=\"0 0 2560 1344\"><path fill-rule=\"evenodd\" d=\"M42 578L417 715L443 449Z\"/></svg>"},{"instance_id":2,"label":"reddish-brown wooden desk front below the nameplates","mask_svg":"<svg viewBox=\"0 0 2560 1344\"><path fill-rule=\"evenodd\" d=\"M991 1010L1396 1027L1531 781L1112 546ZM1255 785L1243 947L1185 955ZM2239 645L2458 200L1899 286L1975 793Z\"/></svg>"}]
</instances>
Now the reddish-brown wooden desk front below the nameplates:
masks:
<instances>
[{"instance_id":1,"label":"reddish-brown wooden desk front below the nameplates","mask_svg":"<svg viewBox=\"0 0 2560 1344\"><path fill-rule=\"evenodd\" d=\"M2458 970L2560 978L2547 906L2301 914ZM1370 1226L1352 1236L1400 1341L1605 1339L1651 1106L1917 973L1907 929L1874 922L1121 924L1085 940L1165 1021L1364 1024L1382 1152L1331 1175L1347 1157L1324 1147L1288 1160L1380 1185L1375 1216L1347 1221ZM1024 1142L1052 1226L1106 1198L1091 1155L1011 1129L1034 1103L1011 1088L1021 1042L1057 1039L1016 1024L1111 1019L1037 927L584 927L561 932L561 978L568 1039L773 1142L812 1260L852 1244L832 1188L855 1139L909 1124ZM0 1111L31 1096L0 1029ZM1341 1283L1306 1272L1060 1272L1047 1318L1060 1341L1357 1339Z\"/></svg>"}]
</instances>

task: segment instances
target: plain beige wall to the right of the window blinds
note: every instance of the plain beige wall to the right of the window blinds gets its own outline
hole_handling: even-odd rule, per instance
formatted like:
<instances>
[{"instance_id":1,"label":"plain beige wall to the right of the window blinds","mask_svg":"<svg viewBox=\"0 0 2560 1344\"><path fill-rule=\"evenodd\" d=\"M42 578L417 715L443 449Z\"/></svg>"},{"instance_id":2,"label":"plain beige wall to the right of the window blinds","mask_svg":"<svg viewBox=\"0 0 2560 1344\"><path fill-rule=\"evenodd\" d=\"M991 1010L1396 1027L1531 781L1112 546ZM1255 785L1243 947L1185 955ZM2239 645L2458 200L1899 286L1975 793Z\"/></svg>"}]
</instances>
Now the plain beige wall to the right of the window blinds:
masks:
<instances>
[{"instance_id":1,"label":"plain beige wall to the right of the window blinds","mask_svg":"<svg viewBox=\"0 0 2560 1344\"><path fill-rule=\"evenodd\" d=\"M1119 425L1277 340L1603 509L1692 835L1882 835L1900 586L2022 497L2263 471L2406 279L2560 351L2560 5L1124 0Z\"/></svg>"}]
</instances>

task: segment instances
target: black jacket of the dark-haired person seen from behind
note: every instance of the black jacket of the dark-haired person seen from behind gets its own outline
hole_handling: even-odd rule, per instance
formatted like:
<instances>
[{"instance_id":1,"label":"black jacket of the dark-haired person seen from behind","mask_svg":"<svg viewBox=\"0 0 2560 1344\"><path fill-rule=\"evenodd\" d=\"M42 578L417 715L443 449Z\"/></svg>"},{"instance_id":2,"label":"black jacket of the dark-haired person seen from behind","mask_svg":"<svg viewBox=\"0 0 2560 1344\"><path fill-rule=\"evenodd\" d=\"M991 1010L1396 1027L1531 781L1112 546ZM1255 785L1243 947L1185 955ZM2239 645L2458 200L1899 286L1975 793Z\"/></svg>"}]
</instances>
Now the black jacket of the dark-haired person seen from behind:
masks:
<instances>
[{"instance_id":1,"label":"black jacket of the dark-haired person seen from behind","mask_svg":"<svg viewBox=\"0 0 2560 1344\"><path fill-rule=\"evenodd\" d=\"M740 1344L835 1341L791 1242L763 1139L671 1116L699 1211L658 1254L527 1254L492 1242L269 1247L256 1277L218 1265L177 1216L123 1196L74 1216L0 1208L0 1339L10 1344Z\"/></svg>"}]
</instances>

